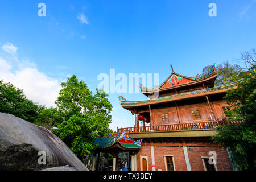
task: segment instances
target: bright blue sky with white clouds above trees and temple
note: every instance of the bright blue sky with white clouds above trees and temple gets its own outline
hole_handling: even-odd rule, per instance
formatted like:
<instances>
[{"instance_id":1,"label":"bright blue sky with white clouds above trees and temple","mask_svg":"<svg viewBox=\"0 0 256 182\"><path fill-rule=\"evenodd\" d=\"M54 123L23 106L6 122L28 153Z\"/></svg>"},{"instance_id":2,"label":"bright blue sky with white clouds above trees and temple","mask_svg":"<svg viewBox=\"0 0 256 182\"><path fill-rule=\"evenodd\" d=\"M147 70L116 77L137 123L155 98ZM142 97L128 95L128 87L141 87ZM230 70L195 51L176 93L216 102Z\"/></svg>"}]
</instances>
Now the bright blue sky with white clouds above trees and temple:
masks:
<instances>
[{"instance_id":1,"label":"bright blue sky with white clouds above trees and temple","mask_svg":"<svg viewBox=\"0 0 256 182\"><path fill-rule=\"evenodd\" d=\"M38 4L46 4L46 17ZM217 16L210 17L209 3ZM91 90L100 73L201 73L256 43L256 1L0 1L0 79L53 105L59 83L75 74ZM9 51L8 51L9 50ZM239 63L238 63L239 64ZM134 125L118 96L109 94L111 127ZM141 93L121 94L130 101ZM118 123L118 124L117 124Z\"/></svg>"}]
</instances>

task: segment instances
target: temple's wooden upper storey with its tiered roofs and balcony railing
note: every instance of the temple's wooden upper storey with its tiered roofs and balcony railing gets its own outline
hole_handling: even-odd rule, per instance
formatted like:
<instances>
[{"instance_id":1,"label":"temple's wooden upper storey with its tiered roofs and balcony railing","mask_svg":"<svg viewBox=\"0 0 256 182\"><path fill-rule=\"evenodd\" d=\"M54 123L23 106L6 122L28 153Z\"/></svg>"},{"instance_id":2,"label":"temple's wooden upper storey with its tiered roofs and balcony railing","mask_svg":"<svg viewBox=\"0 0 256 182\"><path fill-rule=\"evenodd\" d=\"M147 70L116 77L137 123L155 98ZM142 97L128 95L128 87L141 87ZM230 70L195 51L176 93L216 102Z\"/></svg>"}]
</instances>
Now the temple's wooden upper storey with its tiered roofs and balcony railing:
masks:
<instances>
[{"instance_id":1,"label":"temple's wooden upper storey with its tiered roofs and balcony railing","mask_svg":"<svg viewBox=\"0 0 256 182\"><path fill-rule=\"evenodd\" d=\"M158 88L142 93L153 96L146 101L126 101L119 97L123 108L135 115L135 125L118 129L130 133L158 131L215 130L224 125L225 110L229 105L223 100L226 91L236 88L241 81L213 87L217 77L216 65L203 77L185 77L172 74Z\"/></svg>"}]
</instances>

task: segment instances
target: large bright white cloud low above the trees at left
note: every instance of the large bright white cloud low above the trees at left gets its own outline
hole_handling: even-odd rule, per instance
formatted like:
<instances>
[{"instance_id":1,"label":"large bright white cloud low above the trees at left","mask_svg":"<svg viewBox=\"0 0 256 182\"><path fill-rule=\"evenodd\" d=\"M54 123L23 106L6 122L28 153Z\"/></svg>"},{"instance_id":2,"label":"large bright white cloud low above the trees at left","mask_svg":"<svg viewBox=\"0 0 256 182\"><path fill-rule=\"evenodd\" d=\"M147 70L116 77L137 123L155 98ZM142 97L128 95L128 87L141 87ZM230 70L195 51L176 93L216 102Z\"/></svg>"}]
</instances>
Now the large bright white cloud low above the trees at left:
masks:
<instances>
[{"instance_id":1,"label":"large bright white cloud low above the trees at left","mask_svg":"<svg viewBox=\"0 0 256 182\"><path fill-rule=\"evenodd\" d=\"M17 64L0 57L0 65L0 80L11 82L17 88L23 89L28 99L40 105L56 106L54 102L61 89L59 80L48 77L34 63L28 64L28 61L18 60Z\"/></svg>"}]
</instances>

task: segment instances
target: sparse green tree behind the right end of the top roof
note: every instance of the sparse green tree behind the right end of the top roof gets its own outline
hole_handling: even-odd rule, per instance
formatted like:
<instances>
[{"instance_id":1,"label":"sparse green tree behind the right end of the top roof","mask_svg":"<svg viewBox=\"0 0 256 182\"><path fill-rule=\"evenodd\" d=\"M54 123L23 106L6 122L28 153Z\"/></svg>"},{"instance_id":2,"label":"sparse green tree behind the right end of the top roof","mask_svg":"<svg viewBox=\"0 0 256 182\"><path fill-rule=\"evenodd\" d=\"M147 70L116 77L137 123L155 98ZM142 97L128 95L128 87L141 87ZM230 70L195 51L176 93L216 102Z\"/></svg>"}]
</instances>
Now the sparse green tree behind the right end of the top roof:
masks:
<instances>
[{"instance_id":1,"label":"sparse green tree behind the right end of the top roof","mask_svg":"<svg viewBox=\"0 0 256 182\"><path fill-rule=\"evenodd\" d=\"M210 65L203 68L203 75L206 75L210 70ZM217 65L217 78L214 82L214 86L220 86L230 84L231 82L241 79L241 67L237 64L229 64L228 61L224 61Z\"/></svg>"}]
</instances>

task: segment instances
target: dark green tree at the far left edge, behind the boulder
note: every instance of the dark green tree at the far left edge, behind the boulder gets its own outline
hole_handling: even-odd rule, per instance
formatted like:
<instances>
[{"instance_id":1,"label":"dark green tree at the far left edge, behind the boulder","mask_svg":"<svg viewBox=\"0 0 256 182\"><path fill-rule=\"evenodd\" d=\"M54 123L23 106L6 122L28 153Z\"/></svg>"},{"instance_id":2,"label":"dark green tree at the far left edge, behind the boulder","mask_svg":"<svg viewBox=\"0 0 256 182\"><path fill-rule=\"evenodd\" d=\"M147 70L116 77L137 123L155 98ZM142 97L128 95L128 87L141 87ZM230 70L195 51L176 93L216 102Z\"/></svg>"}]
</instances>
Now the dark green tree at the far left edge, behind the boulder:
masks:
<instances>
[{"instance_id":1,"label":"dark green tree at the far left edge, behind the boulder","mask_svg":"<svg viewBox=\"0 0 256 182\"><path fill-rule=\"evenodd\" d=\"M0 80L0 112L34 122L38 114L38 105L28 100L22 89Z\"/></svg>"}]
</instances>

